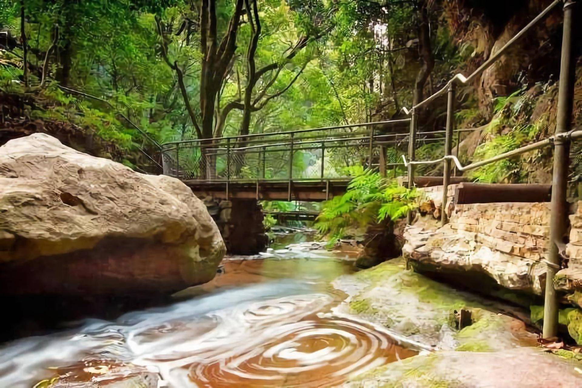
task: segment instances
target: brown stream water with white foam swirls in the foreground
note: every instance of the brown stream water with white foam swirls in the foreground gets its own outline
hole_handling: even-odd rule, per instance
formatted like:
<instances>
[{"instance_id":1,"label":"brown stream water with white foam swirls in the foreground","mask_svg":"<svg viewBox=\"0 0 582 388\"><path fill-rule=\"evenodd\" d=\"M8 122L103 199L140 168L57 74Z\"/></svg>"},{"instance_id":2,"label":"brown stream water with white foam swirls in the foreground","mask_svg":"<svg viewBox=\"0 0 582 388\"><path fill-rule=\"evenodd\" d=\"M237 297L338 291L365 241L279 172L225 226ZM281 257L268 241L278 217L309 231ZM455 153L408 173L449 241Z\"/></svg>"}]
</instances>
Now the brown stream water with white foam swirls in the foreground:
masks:
<instances>
[{"instance_id":1,"label":"brown stream water with white foam swirls in the foreground","mask_svg":"<svg viewBox=\"0 0 582 388\"><path fill-rule=\"evenodd\" d=\"M168 387L328 387L417 354L372 326L334 316L333 257L225 259L186 300L88 320L0 349L0 387L81 387L152 373ZM93 385L91 385L93 386Z\"/></svg>"}]
</instances>

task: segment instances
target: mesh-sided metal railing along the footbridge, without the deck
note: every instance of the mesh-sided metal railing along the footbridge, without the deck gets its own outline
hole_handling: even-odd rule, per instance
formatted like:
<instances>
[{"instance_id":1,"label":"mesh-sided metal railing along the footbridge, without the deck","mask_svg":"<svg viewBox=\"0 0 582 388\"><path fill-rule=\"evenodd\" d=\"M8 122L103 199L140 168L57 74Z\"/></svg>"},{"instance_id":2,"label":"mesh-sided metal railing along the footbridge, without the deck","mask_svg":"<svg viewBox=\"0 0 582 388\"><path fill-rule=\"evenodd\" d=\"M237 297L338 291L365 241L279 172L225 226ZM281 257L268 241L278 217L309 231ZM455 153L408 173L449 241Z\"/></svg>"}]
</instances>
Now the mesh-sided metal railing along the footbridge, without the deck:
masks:
<instances>
[{"instance_id":1,"label":"mesh-sided metal railing along the footbridge, without the deck","mask_svg":"<svg viewBox=\"0 0 582 388\"><path fill-rule=\"evenodd\" d=\"M206 183L347 179L343 167L350 165L385 173L386 166L404 165L400 156L408 133L393 131L409 123L410 119L389 120L173 141L162 144L162 164L166 175Z\"/></svg>"}]
</instances>

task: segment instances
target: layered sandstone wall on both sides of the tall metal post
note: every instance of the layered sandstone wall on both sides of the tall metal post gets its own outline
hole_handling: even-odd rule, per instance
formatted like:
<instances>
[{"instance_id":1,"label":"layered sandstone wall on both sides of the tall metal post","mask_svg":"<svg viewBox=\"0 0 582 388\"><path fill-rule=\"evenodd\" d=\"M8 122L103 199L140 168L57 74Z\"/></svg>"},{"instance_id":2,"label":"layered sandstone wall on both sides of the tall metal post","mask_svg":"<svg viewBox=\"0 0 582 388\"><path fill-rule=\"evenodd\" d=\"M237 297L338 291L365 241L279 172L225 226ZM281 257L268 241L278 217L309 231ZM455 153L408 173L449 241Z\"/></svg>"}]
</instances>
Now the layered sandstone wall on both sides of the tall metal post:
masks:
<instances>
[{"instance_id":1,"label":"layered sandstone wall on both sides of the tall metal post","mask_svg":"<svg viewBox=\"0 0 582 388\"><path fill-rule=\"evenodd\" d=\"M449 186L450 222L441 227L442 187L423 189L418 215L404 232L404 257L420 270L462 277L466 284L484 275L507 289L541 295L549 202L456 204L455 190ZM565 253L553 283L568 301L582 305L582 201L573 205Z\"/></svg>"}]
</instances>

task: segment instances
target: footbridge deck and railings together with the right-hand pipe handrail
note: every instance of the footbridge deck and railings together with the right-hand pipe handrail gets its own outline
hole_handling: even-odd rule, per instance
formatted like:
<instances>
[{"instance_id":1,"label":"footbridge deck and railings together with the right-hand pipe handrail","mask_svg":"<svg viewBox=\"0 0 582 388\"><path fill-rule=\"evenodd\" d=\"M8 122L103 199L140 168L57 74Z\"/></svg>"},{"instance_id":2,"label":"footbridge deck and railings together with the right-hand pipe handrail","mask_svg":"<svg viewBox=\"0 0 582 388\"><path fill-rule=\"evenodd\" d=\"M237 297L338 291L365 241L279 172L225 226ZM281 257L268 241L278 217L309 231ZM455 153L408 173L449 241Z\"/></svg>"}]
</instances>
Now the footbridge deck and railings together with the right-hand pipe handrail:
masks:
<instances>
[{"instance_id":1,"label":"footbridge deck and railings together with the right-hand pipe handrail","mask_svg":"<svg viewBox=\"0 0 582 388\"><path fill-rule=\"evenodd\" d=\"M576 70L572 53L576 20L574 11L580 8L579 3L580 1L574 0L553 1L469 76L456 74L430 97L404 109L406 118L403 119L234 137L187 139L166 144L155 143L144 131L130 123L150 143L154 143L157 155L151 156L148 152L143 152L154 163L155 168L163 169L164 174L184 181L197 194L208 193L226 200L247 199L245 202L255 204L254 200L324 201L346 190L350 179L349 168L372 168L386 176L405 176L403 184L408 187L442 185L443 208L440 213L443 225L448 223L445 207L449 185L463 180L456 175L504 159L516 158L526 152L551 149L551 187L536 188L537 194L534 193L533 197L537 198L536 201L550 197L549 252L544 263L547 266L547 279L554 279L556 272L568 259L564 253L569 225L567 183L573 170L571 162L580 162L579 153L572 155L572 151L580 147L570 147L582 138L582 129L572 125ZM535 26L543 23L545 17L557 12L558 8L562 8L563 12L563 36L555 133L546 138L536 138L530 144L502 152L492 158L463 165L457 158L460 136L464 131L474 129L455 129L456 88L477 83L489 67L504 58L515 42L531 33ZM430 127L419 125L419 121L423 119L421 112L430 109L432 103L445 97L446 127L442 130L419 131L419 128ZM129 119L126 120L129 122ZM420 146L431 142L442 143L442 157L432 160L417 158L421 156L417 155ZM436 171L442 171L442 176L422 177L427 172L435 175ZM526 194L531 192L527 187L503 187L503 190L497 187L488 188L490 191L487 194L481 187L470 185L464 190L474 193L466 194L464 200L471 196L481 200L501 198L504 195L503 190L512 193L516 193L515 190L523 190ZM519 195L521 198L528 197ZM241 214L240 223L237 224L239 226L233 228L235 231L243 230L248 224L248 215ZM409 222L410 220L411 215ZM558 306L559 297L553 282L545 282L544 338L556 336Z\"/></svg>"}]
</instances>

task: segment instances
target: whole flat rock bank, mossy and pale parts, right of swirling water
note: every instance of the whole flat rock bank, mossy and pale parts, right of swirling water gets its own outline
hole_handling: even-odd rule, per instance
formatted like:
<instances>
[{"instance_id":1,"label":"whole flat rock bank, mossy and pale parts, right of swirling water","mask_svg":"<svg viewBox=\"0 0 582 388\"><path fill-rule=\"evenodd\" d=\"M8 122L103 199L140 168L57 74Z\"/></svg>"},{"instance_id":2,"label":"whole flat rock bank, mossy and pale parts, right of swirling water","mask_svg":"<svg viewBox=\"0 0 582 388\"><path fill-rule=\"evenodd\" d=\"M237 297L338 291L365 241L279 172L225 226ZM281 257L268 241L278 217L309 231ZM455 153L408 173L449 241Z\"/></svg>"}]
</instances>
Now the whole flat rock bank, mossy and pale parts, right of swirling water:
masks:
<instances>
[{"instance_id":1,"label":"whole flat rock bank, mossy and pale parts, right of swirling water","mask_svg":"<svg viewBox=\"0 0 582 388\"><path fill-rule=\"evenodd\" d=\"M335 313L373 322L419 355L353 376L343 386L377 387L578 387L582 364L544 353L528 330L527 311L484 300L385 262L339 277L349 294ZM470 311L458 327L455 312ZM519 317L521 319L517 319Z\"/></svg>"}]
</instances>

